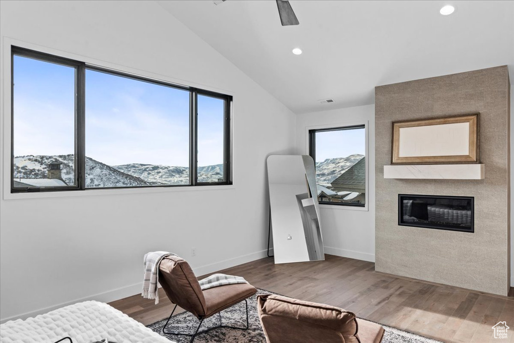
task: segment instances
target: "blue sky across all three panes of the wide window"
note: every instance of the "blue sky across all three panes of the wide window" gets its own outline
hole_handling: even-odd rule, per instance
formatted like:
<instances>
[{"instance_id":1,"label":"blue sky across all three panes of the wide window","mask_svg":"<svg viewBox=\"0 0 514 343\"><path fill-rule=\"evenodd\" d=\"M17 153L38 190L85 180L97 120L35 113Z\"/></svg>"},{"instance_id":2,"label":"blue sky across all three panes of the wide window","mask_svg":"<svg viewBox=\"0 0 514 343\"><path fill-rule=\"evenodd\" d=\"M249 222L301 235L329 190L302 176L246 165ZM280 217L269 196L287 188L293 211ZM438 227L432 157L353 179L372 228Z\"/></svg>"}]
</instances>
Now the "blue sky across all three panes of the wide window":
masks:
<instances>
[{"instance_id":1,"label":"blue sky across all three panes of the wide window","mask_svg":"<svg viewBox=\"0 0 514 343\"><path fill-rule=\"evenodd\" d=\"M70 67L14 58L14 154L74 151ZM223 100L198 97L198 165L223 163ZM86 156L107 165L189 165L189 92L86 70Z\"/></svg>"}]
</instances>

